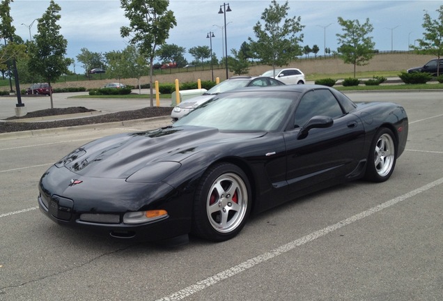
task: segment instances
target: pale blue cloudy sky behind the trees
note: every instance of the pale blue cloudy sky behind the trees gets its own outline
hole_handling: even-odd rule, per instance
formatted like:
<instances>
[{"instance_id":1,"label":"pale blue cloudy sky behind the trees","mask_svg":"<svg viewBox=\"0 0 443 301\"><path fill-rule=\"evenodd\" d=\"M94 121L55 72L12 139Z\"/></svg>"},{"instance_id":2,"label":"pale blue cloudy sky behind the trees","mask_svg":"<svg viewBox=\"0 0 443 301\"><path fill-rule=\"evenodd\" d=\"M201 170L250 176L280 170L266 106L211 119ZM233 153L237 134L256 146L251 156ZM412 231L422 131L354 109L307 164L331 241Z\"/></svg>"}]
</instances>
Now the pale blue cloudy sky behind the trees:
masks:
<instances>
[{"instance_id":1,"label":"pale blue cloudy sky behind the trees","mask_svg":"<svg viewBox=\"0 0 443 301\"><path fill-rule=\"evenodd\" d=\"M127 40L120 36L121 26L127 26L128 20L120 8L118 0L56 0L61 6L61 34L68 40L67 56L76 59L81 48L91 52L110 52L126 47ZM261 13L271 4L270 0L169 0L169 9L173 11L177 26L169 32L166 43L176 44L189 49L194 46L210 45L207 33L213 32L212 49L221 59L223 55L224 15L218 14L220 6L229 3L231 12L226 13L228 53L239 49L240 45L251 37L255 40L252 27L260 20ZM284 1L279 1L283 4ZM371 33L375 48L384 50L407 50L408 43L422 38L423 14L425 10L433 19L438 15L435 10L443 5L442 1L295 1L289 0L289 17L300 16L304 25L302 46L318 45L320 52L329 47L337 48L336 33L341 33L337 17L345 20L369 18L374 30ZM10 14L16 33L24 40L29 40L37 33L36 22L49 6L49 1L15 0L10 5ZM263 22L261 22L263 24ZM330 24L330 25L329 25ZM185 54L188 61L193 58ZM76 63L76 71L81 72L81 64ZM72 65L70 66L72 70Z\"/></svg>"}]
</instances>

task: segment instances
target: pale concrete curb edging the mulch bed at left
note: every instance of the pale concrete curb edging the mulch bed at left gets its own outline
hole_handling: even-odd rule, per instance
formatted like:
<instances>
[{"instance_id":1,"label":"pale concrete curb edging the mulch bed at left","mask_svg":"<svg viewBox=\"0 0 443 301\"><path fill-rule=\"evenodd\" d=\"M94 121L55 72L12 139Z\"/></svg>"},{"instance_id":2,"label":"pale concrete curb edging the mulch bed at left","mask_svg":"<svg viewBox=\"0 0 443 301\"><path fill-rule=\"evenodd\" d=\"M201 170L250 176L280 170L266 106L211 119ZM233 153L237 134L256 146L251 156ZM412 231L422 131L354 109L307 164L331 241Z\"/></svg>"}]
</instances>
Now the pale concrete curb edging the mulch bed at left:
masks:
<instances>
[{"instance_id":1,"label":"pale concrete curb edging the mulch bed at left","mask_svg":"<svg viewBox=\"0 0 443 301\"><path fill-rule=\"evenodd\" d=\"M26 137L34 137L42 134L54 134L59 132L70 132L73 130L100 130L106 128L116 128L116 127L130 127L131 125L140 125L146 123L158 123L158 122L167 122L171 121L171 116L160 116L160 117L151 117L151 118L143 118L143 119L134 119L129 121L115 121L112 123L94 123L91 125L77 125L72 127L65 128L49 128L43 130L29 130L22 132L7 132L0 133L0 139L8 139L8 138L26 138Z\"/></svg>"}]
</instances>

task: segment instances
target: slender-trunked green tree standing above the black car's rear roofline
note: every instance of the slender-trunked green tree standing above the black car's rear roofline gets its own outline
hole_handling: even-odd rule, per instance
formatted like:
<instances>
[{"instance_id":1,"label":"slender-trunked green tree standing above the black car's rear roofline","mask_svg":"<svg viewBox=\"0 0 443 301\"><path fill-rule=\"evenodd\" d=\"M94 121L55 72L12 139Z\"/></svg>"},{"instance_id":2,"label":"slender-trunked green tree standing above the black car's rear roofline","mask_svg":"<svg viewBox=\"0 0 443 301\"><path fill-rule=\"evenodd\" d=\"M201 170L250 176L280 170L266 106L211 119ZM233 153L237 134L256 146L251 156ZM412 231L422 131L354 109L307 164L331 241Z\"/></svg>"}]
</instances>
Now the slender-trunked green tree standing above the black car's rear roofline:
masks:
<instances>
[{"instance_id":1,"label":"slender-trunked green tree standing above the black car's rear roofline","mask_svg":"<svg viewBox=\"0 0 443 301\"><path fill-rule=\"evenodd\" d=\"M372 37L368 36L373 31L373 26L366 18L364 24L359 20L344 20L339 17L339 24L343 33L337 33L341 58L345 63L354 65L354 78L357 65L367 65L368 61L374 56L375 43Z\"/></svg>"}]
</instances>

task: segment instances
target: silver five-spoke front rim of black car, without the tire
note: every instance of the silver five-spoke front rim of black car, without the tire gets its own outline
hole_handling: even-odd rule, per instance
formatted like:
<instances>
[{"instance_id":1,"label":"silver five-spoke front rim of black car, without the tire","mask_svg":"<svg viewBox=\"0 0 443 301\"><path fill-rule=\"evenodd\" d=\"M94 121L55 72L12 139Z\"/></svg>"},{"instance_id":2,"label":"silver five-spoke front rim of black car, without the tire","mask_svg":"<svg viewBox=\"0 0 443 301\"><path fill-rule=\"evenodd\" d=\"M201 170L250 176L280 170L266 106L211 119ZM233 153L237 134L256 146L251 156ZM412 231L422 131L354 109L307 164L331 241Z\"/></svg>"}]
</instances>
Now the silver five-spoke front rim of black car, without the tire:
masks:
<instances>
[{"instance_id":1,"label":"silver five-spoke front rim of black car, without the tire","mask_svg":"<svg viewBox=\"0 0 443 301\"><path fill-rule=\"evenodd\" d=\"M247 187L235 173L224 173L212 183L206 200L210 225L219 233L235 230L247 213Z\"/></svg>"}]
</instances>

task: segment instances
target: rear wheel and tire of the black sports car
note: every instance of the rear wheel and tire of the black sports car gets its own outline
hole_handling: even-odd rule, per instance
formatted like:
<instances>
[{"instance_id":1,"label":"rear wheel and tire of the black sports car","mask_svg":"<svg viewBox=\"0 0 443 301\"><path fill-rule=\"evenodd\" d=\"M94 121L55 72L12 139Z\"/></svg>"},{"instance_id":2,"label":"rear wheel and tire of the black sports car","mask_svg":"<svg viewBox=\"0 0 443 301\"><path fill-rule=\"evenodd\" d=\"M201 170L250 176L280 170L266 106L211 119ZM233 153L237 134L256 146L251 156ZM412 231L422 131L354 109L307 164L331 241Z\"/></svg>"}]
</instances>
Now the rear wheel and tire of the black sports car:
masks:
<instances>
[{"instance_id":1,"label":"rear wheel and tire of the black sports car","mask_svg":"<svg viewBox=\"0 0 443 301\"><path fill-rule=\"evenodd\" d=\"M369 150L366 180L384 182L391 177L397 160L396 147L396 137L391 130L378 130Z\"/></svg>"}]
</instances>

